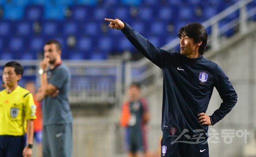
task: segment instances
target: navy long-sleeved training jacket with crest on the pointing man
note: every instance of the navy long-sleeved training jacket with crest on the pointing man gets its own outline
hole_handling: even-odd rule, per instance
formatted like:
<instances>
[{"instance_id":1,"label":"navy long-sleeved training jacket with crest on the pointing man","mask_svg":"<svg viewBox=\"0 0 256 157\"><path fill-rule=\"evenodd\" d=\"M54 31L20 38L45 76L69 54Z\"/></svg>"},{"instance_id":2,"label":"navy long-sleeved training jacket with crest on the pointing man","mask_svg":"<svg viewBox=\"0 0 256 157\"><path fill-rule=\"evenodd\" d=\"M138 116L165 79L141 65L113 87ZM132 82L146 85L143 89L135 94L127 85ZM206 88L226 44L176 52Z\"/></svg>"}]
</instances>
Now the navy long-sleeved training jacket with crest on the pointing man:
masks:
<instances>
[{"instance_id":1,"label":"navy long-sleeved training jacket with crest on the pointing man","mask_svg":"<svg viewBox=\"0 0 256 157\"><path fill-rule=\"evenodd\" d=\"M210 116L212 125L221 120L235 105L237 94L216 63L202 55L190 59L180 52L160 49L127 23L121 31L163 71L162 131L172 132L175 128L174 133L179 134L184 129L189 132L204 129L207 134L208 125L202 126L197 114L206 112L214 86L222 103Z\"/></svg>"}]
</instances>

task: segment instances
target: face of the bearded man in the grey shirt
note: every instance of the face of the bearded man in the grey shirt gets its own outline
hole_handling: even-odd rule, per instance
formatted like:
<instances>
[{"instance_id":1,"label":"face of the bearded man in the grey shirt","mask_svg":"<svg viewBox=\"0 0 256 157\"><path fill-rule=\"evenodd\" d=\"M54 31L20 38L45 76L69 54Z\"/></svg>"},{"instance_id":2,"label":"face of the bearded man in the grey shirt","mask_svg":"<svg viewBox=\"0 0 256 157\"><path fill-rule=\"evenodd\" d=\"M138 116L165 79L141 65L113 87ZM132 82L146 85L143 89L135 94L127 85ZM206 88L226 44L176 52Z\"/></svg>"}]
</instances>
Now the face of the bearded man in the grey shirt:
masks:
<instances>
[{"instance_id":1,"label":"face of the bearded man in the grey shirt","mask_svg":"<svg viewBox=\"0 0 256 157\"><path fill-rule=\"evenodd\" d=\"M46 44L44 46L44 57L49 57L50 64L54 64L56 61L57 56L60 55L60 50L57 49L56 44L51 43L51 44Z\"/></svg>"}]
</instances>

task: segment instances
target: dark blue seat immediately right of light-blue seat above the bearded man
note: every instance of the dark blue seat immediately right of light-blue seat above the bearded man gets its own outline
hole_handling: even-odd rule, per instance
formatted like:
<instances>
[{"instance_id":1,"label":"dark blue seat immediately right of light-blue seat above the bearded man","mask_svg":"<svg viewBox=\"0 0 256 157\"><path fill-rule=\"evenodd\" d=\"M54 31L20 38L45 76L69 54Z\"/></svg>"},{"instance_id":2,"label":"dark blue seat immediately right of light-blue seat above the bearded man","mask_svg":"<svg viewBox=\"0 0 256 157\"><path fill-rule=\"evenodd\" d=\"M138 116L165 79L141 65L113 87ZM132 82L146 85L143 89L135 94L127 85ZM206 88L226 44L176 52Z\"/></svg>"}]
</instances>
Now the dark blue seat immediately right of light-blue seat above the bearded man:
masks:
<instances>
[{"instance_id":1,"label":"dark blue seat immediately right of light-blue seat above the bearded man","mask_svg":"<svg viewBox=\"0 0 256 157\"><path fill-rule=\"evenodd\" d=\"M74 20L87 21L88 20L88 11L87 7L83 5L74 5L71 6L72 15L71 18Z\"/></svg>"}]
</instances>

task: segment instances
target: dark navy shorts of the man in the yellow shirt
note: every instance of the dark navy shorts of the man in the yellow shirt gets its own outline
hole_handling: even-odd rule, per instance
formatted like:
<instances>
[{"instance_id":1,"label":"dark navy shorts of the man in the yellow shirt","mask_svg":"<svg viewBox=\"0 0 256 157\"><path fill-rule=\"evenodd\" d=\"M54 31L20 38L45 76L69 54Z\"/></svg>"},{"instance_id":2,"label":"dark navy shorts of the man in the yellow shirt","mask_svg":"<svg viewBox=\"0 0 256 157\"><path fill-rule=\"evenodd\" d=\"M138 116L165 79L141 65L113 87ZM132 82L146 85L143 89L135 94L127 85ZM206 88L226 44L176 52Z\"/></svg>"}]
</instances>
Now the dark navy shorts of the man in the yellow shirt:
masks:
<instances>
[{"instance_id":1,"label":"dark navy shorts of the man in the yellow shirt","mask_svg":"<svg viewBox=\"0 0 256 157\"><path fill-rule=\"evenodd\" d=\"M22 152L26 145L25 136L0 135L0 156L23 157Z\"/></svg>"}]
</instances>

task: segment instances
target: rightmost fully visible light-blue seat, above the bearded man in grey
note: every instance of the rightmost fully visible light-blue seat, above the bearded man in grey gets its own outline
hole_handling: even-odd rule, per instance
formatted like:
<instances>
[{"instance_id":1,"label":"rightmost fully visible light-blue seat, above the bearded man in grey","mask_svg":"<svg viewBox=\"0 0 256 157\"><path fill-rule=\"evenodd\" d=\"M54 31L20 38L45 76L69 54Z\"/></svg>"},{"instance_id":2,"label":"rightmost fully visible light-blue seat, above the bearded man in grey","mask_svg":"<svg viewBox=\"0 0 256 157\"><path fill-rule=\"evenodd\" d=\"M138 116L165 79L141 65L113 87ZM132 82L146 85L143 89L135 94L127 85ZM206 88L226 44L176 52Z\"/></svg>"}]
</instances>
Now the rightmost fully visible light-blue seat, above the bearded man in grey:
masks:
<instances>
[{"instance_id":1,"label":"rightmost fully visible light-blue seat, above the bearded man in grey","mask_svg":"<svg viewBox=\"0 0 256 157\"><path fill-rule=\"evenodd\" d=\"M44 19L65 19L65 6L61 5L46 5L44 7Z\"/></svg>"}]
</instances>

